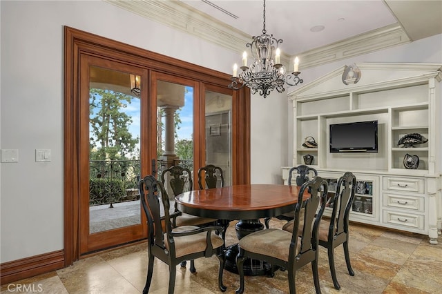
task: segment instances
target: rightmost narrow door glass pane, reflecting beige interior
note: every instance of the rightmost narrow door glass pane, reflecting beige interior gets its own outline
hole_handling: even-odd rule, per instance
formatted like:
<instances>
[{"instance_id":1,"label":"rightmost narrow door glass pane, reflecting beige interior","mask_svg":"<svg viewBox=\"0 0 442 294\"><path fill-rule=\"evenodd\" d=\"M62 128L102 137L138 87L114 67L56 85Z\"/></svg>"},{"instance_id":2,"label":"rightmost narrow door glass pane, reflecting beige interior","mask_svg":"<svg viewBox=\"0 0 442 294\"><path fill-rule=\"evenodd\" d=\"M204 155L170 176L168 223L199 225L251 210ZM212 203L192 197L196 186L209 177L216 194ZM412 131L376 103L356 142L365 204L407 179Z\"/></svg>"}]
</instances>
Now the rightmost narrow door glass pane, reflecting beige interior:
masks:
<instances>
[{"instance_id":1,"label":"rightmost narrow door glass pane, reflecting beige interior","mask_svg":"<svg viewBox=\"0 0 442 294\"><path fill-rule=\"evenodd\" d=\"M220 166L224 186L232 183L232 97L206 91L206 164Z\"/></svg>"}]
</instances>

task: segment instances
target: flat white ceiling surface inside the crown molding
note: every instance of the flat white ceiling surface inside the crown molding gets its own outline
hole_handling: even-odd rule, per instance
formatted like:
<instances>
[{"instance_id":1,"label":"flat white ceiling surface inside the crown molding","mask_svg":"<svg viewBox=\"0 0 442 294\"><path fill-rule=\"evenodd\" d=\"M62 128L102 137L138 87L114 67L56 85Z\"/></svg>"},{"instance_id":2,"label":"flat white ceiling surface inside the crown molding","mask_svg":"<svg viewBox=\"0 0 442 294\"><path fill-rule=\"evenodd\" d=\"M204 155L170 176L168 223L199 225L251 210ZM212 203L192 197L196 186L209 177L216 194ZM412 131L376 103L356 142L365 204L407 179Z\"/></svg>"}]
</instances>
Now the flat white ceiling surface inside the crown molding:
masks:
<instances>
[{"instance_id":1,"label":"flat white ceiling surface inside the crown molding","mask_svg":"<svg viewBox=\"0 0 442 294\"><path fill-rule=\"evenodd\" d=\"M248 35L262 34L263 1L181 1ZM442 33L441 0L267 0L265 5L267 33L283 39L280 48L287 55L297 55L394 23L401 25L412 41ZM316 26L325 28L312 32L311 28Z\"/></svg>"}]
</instances>

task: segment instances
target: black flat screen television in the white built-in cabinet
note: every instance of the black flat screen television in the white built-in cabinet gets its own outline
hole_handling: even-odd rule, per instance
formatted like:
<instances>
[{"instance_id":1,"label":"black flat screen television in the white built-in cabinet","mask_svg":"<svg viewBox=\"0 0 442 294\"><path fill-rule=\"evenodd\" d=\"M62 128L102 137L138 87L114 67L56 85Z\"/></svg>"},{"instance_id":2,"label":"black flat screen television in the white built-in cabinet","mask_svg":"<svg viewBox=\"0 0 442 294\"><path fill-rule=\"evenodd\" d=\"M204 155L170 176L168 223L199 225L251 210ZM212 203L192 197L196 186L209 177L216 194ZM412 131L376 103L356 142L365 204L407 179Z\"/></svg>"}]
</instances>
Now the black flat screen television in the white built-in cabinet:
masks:
<instances>
[{"instance_id":1,"label":"black flat screen television in the white built-in cabinet","mask_svg":"<svg viewBox=\"0 0 442 294\"><path fill-rule=\"evenodd\" d=\"M330 153L378 152L378 121L330 124Z\"/></svg>"}]
</instances>

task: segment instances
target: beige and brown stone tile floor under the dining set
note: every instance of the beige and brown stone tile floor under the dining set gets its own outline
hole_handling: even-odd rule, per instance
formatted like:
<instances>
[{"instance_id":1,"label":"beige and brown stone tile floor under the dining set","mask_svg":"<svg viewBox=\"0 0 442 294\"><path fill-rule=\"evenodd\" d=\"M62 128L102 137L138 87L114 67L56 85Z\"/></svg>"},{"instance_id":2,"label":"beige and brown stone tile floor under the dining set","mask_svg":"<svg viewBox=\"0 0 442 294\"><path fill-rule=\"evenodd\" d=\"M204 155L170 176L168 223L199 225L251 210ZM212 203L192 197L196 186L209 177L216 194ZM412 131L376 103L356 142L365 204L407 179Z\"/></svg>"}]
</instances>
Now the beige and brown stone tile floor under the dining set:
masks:
<instances>
[{"instance_id":1,"label":"beige and brown stone tile floor under the dining set","mask_svg":"<svg viewBox=\"0 0 442 294\"><path fill-rule=\"evenodd\" d=\"M227 244L236 240L232 222ZM272 219L271 227L284 222ZM442 237L431 245L428 237L383 228L352 224L349 248L355 276L347 273L342 246L336 250L336 269L341 289L333 288L327 252L319 254L322 293L442 293ZM115 249L81 259L73 266L1 286L1 293L141 293L146 281L146 243ZM175 293L220 293L218 259L198 259L197 273L177 268ZM167 293L169 270L156 261L150 293ZM244 293L288 293L287 271L274 277L246 277ZM235 293L238 275L224 271L225 293ZM21 287L21 288L20 288ZM315 293L311 267L296 273L297 293Z\"/></svg>"}]
</instances>

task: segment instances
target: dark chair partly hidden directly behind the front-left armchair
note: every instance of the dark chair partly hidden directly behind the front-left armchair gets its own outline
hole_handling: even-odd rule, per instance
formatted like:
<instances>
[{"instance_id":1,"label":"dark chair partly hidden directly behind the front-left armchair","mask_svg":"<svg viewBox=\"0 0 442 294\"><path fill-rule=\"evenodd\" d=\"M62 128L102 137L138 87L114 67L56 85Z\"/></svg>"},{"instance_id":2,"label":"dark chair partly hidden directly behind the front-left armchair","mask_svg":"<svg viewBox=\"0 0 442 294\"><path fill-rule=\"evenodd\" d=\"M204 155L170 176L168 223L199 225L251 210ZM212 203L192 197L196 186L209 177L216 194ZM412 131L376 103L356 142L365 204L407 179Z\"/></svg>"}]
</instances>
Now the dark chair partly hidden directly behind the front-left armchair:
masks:
<instances>
[{"instance_id":1,"label":"dark chair partly hidden directly behind the front-left armchair","mask_svg":"<svg viewBox=\"0 0 442 294\"><path fill-rule=\"evenodd\" d=\"M174 204L174 212L171 214L173 228L179 226L215 226L217 224L218 219L197 217L195 215L182 213L177 209L175 196L193 190L192 173L189 168L171 166L171 168L163 170L160 178L163 186L170 186L173 192L172 199L169 199L169 201L173 201ZM181 266L186 266L186 261L183 261ZM191 260L190 271L191 273L196 272L193 260Z\"/></svg>"}]
</instances>

